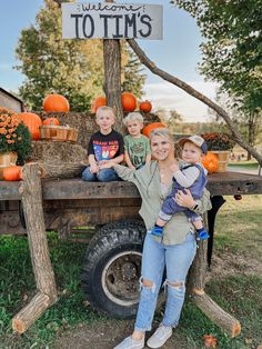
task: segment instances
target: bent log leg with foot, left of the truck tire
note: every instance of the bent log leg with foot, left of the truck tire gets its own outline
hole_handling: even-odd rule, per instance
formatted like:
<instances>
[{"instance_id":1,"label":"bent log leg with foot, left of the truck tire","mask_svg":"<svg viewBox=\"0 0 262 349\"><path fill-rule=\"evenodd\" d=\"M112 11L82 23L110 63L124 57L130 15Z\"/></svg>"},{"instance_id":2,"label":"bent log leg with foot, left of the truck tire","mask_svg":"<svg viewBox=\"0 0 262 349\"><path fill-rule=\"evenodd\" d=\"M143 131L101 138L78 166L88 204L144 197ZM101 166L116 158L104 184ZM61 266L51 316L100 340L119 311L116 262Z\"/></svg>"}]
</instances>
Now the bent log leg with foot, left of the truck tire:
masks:
<instances>
[{"instance_id":1,"label":"bent log leg with foot, left of the truck tire","mask_svg":"<svg viewBox=\"0 0 262 349\"><path fill-rule=\"evenodd\" d=\"M23 168L19 191L22 198L28 241L38 293L12 319L12 328L23 333L57 299L54 273L49 257L42 208L42 188L38 163Z\"/></svg>"}]
</instances>

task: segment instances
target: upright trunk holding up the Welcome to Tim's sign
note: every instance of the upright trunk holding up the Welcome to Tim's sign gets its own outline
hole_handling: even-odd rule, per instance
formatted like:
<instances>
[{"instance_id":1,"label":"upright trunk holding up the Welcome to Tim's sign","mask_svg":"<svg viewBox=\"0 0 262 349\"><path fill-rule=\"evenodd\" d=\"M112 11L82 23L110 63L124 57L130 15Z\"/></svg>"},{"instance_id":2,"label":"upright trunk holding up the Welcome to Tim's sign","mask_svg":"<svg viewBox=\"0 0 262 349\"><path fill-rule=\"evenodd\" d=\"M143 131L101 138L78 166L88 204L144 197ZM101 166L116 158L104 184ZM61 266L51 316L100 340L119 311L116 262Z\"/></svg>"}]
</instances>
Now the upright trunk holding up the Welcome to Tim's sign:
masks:
<instances>
[{"instance_id":1,"label":"upright trunk holding up the Welcome to Tim's sign","mask_svg":"<svg viewBox=\"0 0 262 349\"><path fill-rule=\"evenodd\" d=\"M105 2L113 2L107 0ZM121 103L121 50L120 41L113 39L103 40L103 66L104 66L104 92L108 106L115 110L114 128L123 132L123 108Z\"/></svg>"}]
</instances>

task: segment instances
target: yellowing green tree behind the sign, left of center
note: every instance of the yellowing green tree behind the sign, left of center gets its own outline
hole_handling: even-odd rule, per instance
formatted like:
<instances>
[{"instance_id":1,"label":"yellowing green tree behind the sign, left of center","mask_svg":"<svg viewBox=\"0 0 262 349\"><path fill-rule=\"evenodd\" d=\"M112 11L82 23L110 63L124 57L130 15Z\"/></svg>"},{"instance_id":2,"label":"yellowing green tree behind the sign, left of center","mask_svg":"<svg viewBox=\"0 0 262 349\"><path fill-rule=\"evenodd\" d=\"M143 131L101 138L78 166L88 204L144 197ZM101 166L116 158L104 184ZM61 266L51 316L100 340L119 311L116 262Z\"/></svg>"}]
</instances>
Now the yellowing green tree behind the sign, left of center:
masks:
<instances>
[{"instance_id":1,"label":"yellowing green tree behind the sign, left of center","mask_svg":"<svg viewBox=\"0 0 262 349\"><path fill-rule=\"evenodd\" d=\"M41 108L50 92L67 97L71 110L89 110L91 100L103 93L102 40L63 40L61 28L61 9L53 0L44 0L36 26L21 31L17 47L21 64L17 69L26 81L19 89L20 96L34 110ZM141 94L144 79L140 78L139 66L132 68L127 51L123 58L123 72L128 72L123 80L130 79L131 91Z\"/></svg>"}]
</instances>

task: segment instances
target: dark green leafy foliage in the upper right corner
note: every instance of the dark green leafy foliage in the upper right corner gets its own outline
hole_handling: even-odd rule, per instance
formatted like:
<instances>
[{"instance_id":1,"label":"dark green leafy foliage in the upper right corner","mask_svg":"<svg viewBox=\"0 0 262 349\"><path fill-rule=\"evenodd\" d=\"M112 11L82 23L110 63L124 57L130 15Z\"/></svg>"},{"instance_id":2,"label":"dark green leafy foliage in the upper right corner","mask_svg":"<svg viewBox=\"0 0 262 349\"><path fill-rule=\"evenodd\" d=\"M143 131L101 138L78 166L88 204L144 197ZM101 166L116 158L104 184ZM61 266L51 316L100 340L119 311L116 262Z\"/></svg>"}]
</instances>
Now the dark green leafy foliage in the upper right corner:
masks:
<instances>
[{"instance_id":1,"label":"dark green leafy foliage in the upper right corner","mask_svg":"<svg viewBox=\"0 0 262 349\"><path fill-rule=\"evenodd\" d=\"M262 107L261 0L173 0L196 19L201 71L240 99L250 113Z\"/></svg>"}]
</instances>

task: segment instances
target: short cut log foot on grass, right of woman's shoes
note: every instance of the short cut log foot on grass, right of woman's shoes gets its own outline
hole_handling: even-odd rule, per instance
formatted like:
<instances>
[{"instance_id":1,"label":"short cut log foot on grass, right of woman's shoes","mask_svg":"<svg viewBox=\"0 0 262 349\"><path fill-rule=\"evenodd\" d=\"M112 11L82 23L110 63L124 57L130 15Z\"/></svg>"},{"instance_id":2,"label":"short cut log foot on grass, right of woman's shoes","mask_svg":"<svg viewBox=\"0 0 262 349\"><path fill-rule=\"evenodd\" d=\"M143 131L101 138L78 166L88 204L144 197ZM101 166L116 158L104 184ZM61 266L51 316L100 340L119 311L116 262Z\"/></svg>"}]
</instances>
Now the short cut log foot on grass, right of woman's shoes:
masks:
<instances>
[{"instance_id":1,"label":"short cut log foot on grass, right of woman's shoes","mask_svg":"<svg viewBox=\"0 0 262 349\"><path fill-rule=\"evenodd\" d=\"M222 328L231 338L240 335L240 322L216 305L204 291L198 292L196 290L192 300L213 323Z\"/></svg>"}]
</instances>

